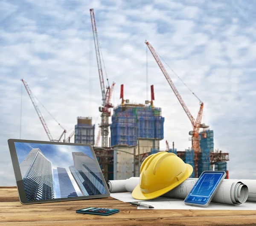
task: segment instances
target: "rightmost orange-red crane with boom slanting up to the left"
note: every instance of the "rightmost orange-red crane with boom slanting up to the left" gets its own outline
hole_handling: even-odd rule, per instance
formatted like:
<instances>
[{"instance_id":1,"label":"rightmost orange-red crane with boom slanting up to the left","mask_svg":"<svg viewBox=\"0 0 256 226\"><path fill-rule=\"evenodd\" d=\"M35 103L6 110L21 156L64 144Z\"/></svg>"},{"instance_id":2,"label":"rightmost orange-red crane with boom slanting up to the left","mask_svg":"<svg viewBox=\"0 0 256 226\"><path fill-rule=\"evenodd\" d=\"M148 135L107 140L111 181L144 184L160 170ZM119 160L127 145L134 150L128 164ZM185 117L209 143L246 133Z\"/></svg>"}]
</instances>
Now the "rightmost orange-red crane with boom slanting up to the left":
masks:
<instances>
[{"instance_id":1,"label":"rightmost orange-red crane with boom slanting up to the left","mask_svg":"<svg viewBox=\"0 0 256 226\"><path fill-rule=\"evenodd\" d=\"M178 92L178 90L176 89L175 85L173 84L172 79L170 78L170 76L168 75L167 71L163 67L162 62L160 61L160 59L159 59L159 57L157 55L157 52L154 50L154 48L151 46L151 44L148 41L145 41L145 43L148 46L148 49L152 53L154 59L156 60L158 66L160 67L161 71L163 72L163 75L165 76L165 78L168 81L169 85L171 86L173 92L175 93L175 96L177 97L178 101L180 102L181 106L183 107L183 109L185 110L187 116L189 117L190 122L192 123L193 131L189 132L189 135L192 136L192 149L194 151L200 151L199 129L200 128L207 128L207 127L209 127L209 126L207 126L205 124L201 124L204 103L193 93L195 95L195 97L200 101L200 109L199 109L199 112L198 112L198 116L197 116L197 118L195 120L193 118L192 114L190 113L188 107L186 106L185 102L181 98L180 93Z\"/></svg>"}]
</instances>

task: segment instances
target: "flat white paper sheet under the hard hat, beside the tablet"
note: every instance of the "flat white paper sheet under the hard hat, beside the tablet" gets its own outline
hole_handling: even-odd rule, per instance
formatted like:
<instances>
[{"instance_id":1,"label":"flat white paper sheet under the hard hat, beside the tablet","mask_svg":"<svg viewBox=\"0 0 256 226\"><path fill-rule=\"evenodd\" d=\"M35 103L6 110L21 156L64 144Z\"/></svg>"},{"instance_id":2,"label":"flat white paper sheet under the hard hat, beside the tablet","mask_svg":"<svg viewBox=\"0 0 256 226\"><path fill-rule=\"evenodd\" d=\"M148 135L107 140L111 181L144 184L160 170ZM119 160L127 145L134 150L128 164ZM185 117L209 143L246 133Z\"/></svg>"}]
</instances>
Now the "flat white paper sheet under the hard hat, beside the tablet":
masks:
<instances>
[{"instance_id":1,"label":"flat white paper sheet under the hard hat, beside the tablet","mask_svg":"<svg viewBox=\"0 0 256 226\"><path fill-rule=\"evenodd\" d=\"M177 198L170 198L170 197L157 197L155 199L151 199L151 200L137 200L137 199L134 199L132 196L131 196L131 192L118 192L118 193L111 193L110 194L111 197L115 198L115 199L118 199L124 203L130 203L130 202L134 202L134 203L137 203L137 202L147 202L147 201L168 201L168 200L180 200L180 199L177 199Z\"/></svg>"}]
</instances>

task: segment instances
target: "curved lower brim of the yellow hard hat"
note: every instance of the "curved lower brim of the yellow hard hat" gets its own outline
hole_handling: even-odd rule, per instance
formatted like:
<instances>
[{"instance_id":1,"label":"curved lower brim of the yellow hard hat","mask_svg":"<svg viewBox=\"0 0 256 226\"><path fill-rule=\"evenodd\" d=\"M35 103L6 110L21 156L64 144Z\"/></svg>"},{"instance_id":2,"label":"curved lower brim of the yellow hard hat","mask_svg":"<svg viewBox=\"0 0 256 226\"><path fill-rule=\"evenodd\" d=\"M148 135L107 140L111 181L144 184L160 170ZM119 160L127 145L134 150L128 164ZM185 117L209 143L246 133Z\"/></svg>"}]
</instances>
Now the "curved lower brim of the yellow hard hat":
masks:
<instances>
[{"instance_id":1,"label":"curved lower brim of the yellow hard hat","mask_svg":"<svg viewBox=\"0 0 256 226\"><path fill-rule=\"evenodd\" d=\"M150 200L150 199L157 198L163 194L166 194L168 191L171 191L173 188L176 188L178 185L183 183L186 179L188 179L191 176L191 174L193 172L193 167L192 167L192 165L189 165L189 164L186 164L186 166L187 166L187 170L184 174L184 177L182 179L180 179L179 181L173 183L172 185L170 185L166 188L163 188L159 191L154 191L152 193L145 194L145 193L142 193L142 191L140 190L140 184L138 184L134 188L133 192L131 193L131 196L137 200Z\"/></svg>"}]
</instances>

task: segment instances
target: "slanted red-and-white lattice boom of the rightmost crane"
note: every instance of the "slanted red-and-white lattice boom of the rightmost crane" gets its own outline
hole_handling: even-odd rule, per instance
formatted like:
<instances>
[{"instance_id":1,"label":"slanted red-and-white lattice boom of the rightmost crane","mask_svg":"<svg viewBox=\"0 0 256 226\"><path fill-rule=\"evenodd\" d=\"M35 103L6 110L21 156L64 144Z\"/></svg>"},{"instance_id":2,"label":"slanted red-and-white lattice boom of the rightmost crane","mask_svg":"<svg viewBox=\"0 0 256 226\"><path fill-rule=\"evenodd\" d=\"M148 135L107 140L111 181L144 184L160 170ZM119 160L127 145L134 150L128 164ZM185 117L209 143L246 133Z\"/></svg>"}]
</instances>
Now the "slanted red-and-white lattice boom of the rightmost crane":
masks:
<instances>
[{"instance_id":1,"label":"slanted red-and-white lattice boom of the rightmost crane","mask_svg":"<svg viewBox=\"0 0 256 226\"><path fill-rule=\"evenodd\" d=\"M150 52L152 53L154 59L157 61L158 66L160 67L161 71L163 72L163 75L166 77L166 80L168 81L169 85L171 86L173 92L175 93L175 96L177 97L178 101L180 102L181 106L183 107L187 116L189 117L189 120L192 123L192 126L195 127L196 126L195 119L193 118L192 114L190 113L188 107L186 106L185 102L183 101L182 97L180 96L180 93L176 89L175 85L173 84L172 79L170 78L167 71L163 67L163 64L160 61L156 51L154 50L154 48L151 46L151 44L148 41L145 41L145 43L148 46L148 49L150 50Z\"/></svg>"}]
</instances>

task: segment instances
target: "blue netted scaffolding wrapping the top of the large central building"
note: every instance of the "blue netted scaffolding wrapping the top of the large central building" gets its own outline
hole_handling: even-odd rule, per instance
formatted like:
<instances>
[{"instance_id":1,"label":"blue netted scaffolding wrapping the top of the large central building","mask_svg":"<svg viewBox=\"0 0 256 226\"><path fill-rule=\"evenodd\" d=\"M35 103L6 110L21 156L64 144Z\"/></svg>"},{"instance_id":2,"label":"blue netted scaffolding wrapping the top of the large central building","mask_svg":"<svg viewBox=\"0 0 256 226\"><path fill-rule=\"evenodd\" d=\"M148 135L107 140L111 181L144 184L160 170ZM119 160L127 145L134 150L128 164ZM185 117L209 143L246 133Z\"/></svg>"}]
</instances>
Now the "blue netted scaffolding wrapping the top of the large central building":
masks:
<instances>
[{"instance_id":1,"label":"blue netted scaffolding wrapping the top of the large central building","mask_svg":"<svg viewBox=\"0 0 256 226\"><path fill-rule=\"evenodd\" d=\"M125 104L114 108L111 146L137 146L138 139L163 139L164 117L161 108L143 104Z\"/></svg>"}]
</instances>

